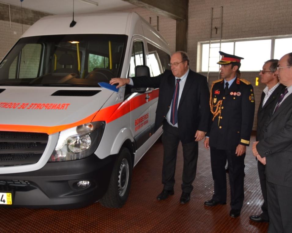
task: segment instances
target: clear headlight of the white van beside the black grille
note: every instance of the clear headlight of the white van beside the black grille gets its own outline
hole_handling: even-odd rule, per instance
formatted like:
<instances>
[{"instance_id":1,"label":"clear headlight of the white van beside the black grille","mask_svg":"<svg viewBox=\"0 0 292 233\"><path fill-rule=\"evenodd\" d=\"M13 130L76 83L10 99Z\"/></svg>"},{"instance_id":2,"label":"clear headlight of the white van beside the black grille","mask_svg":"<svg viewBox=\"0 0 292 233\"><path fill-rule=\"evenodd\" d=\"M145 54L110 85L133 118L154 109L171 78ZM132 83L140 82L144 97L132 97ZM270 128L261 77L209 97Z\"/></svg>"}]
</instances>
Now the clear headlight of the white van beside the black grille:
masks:
<instances>
[{"instance_id":1,"label":"clear headlight of the white van beside the black grille","mask_svg":"<svg viewBox=\"0 0 292 233\"><path fill-rule=\"evenodd\" d=\"M91 122L61 131L57 146L49 162L69 161L85 158L97 149L105 122Z\"/></svg>"}]
</instances>

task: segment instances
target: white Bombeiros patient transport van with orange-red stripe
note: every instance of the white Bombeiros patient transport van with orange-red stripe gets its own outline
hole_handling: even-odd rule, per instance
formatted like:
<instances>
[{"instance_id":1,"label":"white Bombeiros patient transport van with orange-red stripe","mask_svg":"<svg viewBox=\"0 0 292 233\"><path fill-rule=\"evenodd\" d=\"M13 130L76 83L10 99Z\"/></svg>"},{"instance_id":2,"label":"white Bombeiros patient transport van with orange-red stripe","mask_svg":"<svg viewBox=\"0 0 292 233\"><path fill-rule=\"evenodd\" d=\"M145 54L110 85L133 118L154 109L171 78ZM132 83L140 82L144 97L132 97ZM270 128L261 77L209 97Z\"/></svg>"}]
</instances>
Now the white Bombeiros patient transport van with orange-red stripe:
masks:
<instances>
[{"instance_id":1,"label":"white Bombeiros patient transport van with orange-red stripe","mask_svg":"<svg viewBox=\"0 0 292 233\"><path fill-rule=\"evenodd\" d=\"M40 19L0 63L2 206L122 207L132 168L162 133L159 89L108 83L169 69L166 41L137 13L74 20Z\"/></svg>"}]
</instances>

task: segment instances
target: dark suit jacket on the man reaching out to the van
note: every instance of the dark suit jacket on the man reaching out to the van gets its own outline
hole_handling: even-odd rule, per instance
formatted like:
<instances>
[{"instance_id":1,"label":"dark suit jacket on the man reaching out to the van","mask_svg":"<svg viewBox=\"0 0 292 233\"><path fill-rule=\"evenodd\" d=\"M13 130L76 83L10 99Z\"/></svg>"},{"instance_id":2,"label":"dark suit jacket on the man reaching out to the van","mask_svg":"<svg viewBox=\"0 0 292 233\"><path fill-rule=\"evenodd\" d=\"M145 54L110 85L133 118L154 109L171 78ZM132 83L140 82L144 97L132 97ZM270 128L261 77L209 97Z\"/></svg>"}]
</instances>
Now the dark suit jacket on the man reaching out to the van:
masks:
<instances>
[{"instance_id":1,"label":"dark suit jacket on the man reaching out to the van","mask_svg":"<svg viewBox=\"0 0 292 233\"><path fill-rule=\"evenodd\" d=\"M166 70L156 77L134 77L134 87L159 88L159 99L155 117L155 131L162 125L173 97L175 77ZM207 132L210 109L207 79L192 70L189 71L177 109L177 124L182 143L195 140L197 130Z\"/></svg>"}]
</instances>

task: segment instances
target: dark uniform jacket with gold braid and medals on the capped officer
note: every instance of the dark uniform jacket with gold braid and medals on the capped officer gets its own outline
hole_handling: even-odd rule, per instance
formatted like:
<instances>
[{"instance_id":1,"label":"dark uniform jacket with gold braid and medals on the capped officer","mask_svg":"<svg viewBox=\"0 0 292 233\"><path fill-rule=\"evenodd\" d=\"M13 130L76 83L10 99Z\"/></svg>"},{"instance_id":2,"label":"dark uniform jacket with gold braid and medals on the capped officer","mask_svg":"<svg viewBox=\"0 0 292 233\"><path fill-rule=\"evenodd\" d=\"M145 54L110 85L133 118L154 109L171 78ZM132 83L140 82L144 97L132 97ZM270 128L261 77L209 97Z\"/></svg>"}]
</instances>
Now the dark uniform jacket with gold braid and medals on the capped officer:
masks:
<instances>
[{"instance_id":1,"label":"dark uniform jacket with gold braid and medals on the capped officer","mask_svg":"<svg viewBox=\"0 0 292 233\"><path fill-rule=\"evenodd\" d=\"M249 145L255 103L253 86L248 81L236 78L226 95L224 79L214 81L210 108L215 114L208 133L210 147L235 150L238 144Z\"/></svg>"}]
</instances>

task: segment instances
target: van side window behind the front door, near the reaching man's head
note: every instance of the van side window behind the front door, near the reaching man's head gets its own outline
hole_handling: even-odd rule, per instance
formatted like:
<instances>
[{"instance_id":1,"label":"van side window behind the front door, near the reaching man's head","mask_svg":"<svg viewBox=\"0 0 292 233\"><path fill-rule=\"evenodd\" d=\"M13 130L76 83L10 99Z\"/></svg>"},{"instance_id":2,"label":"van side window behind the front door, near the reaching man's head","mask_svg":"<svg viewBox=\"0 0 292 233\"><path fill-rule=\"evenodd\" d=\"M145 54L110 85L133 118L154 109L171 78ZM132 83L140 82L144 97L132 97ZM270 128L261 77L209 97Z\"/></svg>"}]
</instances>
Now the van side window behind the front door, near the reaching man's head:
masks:
<instances>
[{"instance_id":1,"label":"van side window behind the front door, near the reaching man's head","mask_svg":"<svg viewBox=\"0 0 292 233\"><path fill-rule=\"evenodd\" d=\"M163 73L166 69L170 69L170 55L165 51L157 48L156 46L147 43L148 55L147 55L147 65L149 66L150 73L153 76L159 75L157 65L159 65L159 70ZM153 72L152 72L153 71Z\"/></svg>"}]
</instances>

